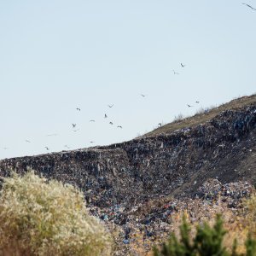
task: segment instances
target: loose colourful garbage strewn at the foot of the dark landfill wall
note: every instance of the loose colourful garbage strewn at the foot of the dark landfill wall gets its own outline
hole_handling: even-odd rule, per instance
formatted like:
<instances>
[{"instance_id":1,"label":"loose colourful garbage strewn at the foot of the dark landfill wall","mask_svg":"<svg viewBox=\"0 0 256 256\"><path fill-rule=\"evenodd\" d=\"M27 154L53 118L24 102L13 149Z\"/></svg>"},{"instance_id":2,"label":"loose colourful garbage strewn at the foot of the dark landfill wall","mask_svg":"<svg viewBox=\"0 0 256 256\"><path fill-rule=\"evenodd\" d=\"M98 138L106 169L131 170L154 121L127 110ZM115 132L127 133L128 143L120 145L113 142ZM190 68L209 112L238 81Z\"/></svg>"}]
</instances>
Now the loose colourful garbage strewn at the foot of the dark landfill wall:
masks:
<instances>
[{"instance_id":1,"label":"loose colourful garbage strewn at the foot of the dark landfill wall","mask_svg":"<svg viewBox=\"0 0 256 256\"><path fill-rule=\"evenodd\" d=\"M234 221L243 200L255 193L253 185L247 182L221 183L209 179L196 191L195 196L182 199L168 196L159 200L138 203L131 209L124 205L108 208L90 207L90 212L108 225L118 226L119 248L115 255L145 255L155 244L160 244L177 231L183 214L193 224L212 220L222 213L226 222ZM140 249L138 253L137 249Z\"/></svg>"}]
</instances>

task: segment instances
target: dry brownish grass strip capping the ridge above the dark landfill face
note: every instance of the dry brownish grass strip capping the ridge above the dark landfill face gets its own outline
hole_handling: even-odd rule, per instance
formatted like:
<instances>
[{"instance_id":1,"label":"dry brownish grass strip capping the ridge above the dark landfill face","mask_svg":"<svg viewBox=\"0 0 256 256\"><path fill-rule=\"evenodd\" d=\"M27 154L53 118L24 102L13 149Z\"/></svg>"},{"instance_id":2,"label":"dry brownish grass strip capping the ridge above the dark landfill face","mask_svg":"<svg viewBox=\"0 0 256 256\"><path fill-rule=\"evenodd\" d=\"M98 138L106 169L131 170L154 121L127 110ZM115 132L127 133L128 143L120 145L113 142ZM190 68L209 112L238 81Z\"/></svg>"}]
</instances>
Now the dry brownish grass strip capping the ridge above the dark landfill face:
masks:
<instances>
[{"instance_id":1,"label":"dry brownish grass strip capping the ridge above the dark landfill face","mask_svg":"<svg viewBox=\"0 0 256 256\"><path fill-rule=\"evenodd\" d=\"M193 127L195 125L203 124L213 119L224 110L242 108L253 103L256 103L256 94L253 96L243 96L241 98L232 100L231 102L220 105L217 108L202 108L199 110L199 113L196 113L192 117L185 119L174 119L172 123L163 125L154 131L150 131L143 135L143 137L156 136L160 133L169 133L185 127Z\"/></svg>"}]
</instances>

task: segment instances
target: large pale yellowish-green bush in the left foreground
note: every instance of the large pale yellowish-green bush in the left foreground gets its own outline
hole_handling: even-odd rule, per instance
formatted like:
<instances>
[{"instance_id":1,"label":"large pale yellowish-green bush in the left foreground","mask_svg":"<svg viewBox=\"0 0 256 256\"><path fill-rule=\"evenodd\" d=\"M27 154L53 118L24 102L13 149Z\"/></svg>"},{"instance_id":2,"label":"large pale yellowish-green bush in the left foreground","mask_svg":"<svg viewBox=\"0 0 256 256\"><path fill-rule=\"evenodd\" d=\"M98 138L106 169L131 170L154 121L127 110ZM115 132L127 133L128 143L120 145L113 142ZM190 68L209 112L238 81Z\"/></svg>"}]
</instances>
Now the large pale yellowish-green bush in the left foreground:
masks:
<instances>
[{"instance_id":1,"label":"large pale yellowish-green bush in the left foreground","mask_svg":"<svg viewBox=\"0 0 256 256\"><path fill-rule=\"evenodd\" d=\"M110 255L111 239L72 185L14 173L0 193L1 253Z\"/></svg>"}]
</instances>

